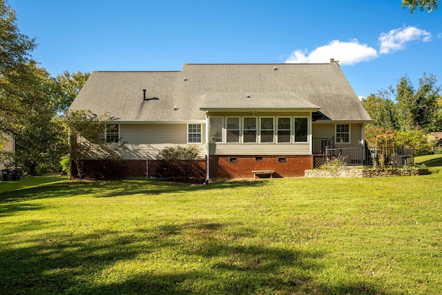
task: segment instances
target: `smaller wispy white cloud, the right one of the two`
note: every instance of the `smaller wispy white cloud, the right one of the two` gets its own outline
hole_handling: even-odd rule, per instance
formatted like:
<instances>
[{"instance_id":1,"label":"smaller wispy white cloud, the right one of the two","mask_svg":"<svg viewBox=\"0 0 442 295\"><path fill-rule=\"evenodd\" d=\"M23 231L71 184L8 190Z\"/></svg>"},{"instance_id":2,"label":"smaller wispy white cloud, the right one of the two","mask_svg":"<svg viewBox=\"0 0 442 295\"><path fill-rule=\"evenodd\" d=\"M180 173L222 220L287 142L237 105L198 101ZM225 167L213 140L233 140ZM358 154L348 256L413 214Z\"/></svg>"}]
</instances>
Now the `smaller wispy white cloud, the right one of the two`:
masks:
<instances>
[{"instance_id":1,"label":"smaller wispy white cloud, the right one of the two","mask_svg":"<svg viewBox=\"0 0 442 295\"><path fill-rule=\"evenodd\" d=\"M383 32L379 36L379 41L381 41L379 53L387 54L403 50L407 42L414 40L428 42L431 40L431 33L412 26L390 30L387 33Z\"/></svg>"}]
</instances>

